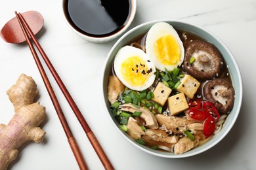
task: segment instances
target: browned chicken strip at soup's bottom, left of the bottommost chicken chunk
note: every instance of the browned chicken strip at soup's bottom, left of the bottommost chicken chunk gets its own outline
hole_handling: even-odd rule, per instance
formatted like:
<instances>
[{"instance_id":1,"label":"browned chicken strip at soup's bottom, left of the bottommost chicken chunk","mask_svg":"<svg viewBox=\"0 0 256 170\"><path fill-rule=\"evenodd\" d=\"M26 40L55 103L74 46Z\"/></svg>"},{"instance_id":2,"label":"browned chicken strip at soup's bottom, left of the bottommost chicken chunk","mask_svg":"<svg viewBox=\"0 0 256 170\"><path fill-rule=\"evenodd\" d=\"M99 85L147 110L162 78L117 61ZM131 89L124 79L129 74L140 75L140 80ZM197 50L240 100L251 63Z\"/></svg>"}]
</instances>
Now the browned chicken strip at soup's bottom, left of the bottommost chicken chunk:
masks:
<instances>
[{"instance_id":1,"label":"browned chicken strip at soup's bottom, left of the bottommost chicken chunk","mask_svg":"<svg viewBox=\"0 0 256 170\"><path fill-rule=\"evenodd\" d=\"M169 136L165 131L161 129L147 129L146 136L149 137L149 139L152 139L154 141L159 141L163 143L169 143L169 144L175 144L178 142L179 137L177 136Z\"/></svg>"}]
</instances>

